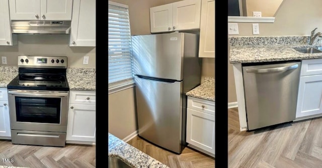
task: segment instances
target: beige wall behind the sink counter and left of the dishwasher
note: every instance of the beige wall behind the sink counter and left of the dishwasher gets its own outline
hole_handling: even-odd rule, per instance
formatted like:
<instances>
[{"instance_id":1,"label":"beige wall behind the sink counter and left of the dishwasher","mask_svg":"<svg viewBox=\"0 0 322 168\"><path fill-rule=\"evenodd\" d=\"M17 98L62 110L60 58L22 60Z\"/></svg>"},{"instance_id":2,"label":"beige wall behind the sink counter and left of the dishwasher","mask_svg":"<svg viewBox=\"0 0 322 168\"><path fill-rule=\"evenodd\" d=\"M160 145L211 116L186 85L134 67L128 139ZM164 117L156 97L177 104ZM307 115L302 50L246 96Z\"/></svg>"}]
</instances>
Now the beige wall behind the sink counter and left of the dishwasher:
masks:
<instances>
[{"instance_id":1,"label":"beige wall behind the sink counter and left of the dishwasher","mask_svg":"<svg viewBox=\"0 0 322 168\"><path fill-rule=\"evenodd\" d=\"M252 34L252 23L238 23L239 35L229 36L310 36L314 28L322 32L321 7L321 0L284 0L274 23L259 24L259 35ZM236 100L235 95L232 65L228 64L228 102Z\"/></svg>"}]
</instances>

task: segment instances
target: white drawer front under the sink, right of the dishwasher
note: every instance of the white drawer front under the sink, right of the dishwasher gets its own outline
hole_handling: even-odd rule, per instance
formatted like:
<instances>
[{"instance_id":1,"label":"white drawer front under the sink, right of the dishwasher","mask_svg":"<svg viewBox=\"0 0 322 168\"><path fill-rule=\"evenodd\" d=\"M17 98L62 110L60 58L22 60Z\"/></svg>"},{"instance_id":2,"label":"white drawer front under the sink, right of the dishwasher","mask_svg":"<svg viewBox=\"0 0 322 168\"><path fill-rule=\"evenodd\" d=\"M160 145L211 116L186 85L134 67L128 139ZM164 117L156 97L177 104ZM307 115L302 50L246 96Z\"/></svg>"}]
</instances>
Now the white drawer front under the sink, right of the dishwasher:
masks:
<instances>
[{"instance_id":1,"label":"white drawer front under the sink, right of the dishwasher","mask_svg":"<svg viewBox=\"0 0 322 168\"><path fill-rule=\"evenodd\" d=\"M322 59L302 60L300 74L300 76L322 74Z\"/></svg>"}]
</instances>

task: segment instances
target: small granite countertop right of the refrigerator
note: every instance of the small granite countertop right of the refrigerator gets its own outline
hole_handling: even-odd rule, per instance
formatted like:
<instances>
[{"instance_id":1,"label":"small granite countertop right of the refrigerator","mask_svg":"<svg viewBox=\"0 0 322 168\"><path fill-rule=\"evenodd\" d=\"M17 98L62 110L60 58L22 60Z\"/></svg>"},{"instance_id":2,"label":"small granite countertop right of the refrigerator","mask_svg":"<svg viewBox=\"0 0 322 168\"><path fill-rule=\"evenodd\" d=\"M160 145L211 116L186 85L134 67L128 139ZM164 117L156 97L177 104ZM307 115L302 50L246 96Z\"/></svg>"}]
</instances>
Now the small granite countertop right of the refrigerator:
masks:
<instances>
[{"instance_id":1,"label":"small granite countertop right of the refrigerator","mask_svg":"<svg viewBox=\"0 0 322 168\"><path fill-rule=\"evenodd\" d=\"M215 101L215 79L205 77L204 82L186 93L187 96Z\"/></svg>"}]
</instances>

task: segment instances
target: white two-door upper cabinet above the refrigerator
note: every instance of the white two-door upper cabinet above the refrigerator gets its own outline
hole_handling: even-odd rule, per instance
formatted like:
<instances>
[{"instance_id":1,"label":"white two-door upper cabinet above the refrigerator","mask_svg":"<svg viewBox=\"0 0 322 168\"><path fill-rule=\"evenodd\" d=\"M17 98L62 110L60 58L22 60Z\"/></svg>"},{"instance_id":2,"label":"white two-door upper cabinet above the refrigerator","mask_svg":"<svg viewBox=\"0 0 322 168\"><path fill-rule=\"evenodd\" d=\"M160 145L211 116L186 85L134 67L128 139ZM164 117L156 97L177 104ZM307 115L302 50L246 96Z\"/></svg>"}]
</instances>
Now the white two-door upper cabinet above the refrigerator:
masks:
<instances>
[{"instance_id":1,"label":"white two-door upper cabinet above the refrigerator","mask_svg":"<svg viewBox=\"0 0 322 168\"><path fill-rule=\"evenodd\" d=\"M201 0L185 0L150 8L151 33L200 28Z\"/></svg>"}]
</instances>

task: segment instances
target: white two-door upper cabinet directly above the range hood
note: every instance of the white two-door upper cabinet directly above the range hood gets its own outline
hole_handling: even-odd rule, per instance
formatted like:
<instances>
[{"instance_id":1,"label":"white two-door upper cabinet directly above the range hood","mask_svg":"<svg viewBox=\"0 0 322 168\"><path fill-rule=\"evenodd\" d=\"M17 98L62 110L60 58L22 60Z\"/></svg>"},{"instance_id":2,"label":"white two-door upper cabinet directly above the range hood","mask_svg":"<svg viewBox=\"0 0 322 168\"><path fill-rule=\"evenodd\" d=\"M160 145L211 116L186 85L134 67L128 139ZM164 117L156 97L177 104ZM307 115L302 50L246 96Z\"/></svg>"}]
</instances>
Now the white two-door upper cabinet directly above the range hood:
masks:
<instances>
[{"instance_id":1,"label":"white two-door upper cabinet directly above the range hood","mask_svg":"<svg viewBox=\"0 0 322 168\"><path fill-rule=\"evenodd\" d=\"M11 20L71 20L72 0L9 0Z\"/></svg>"}]
</instances>

